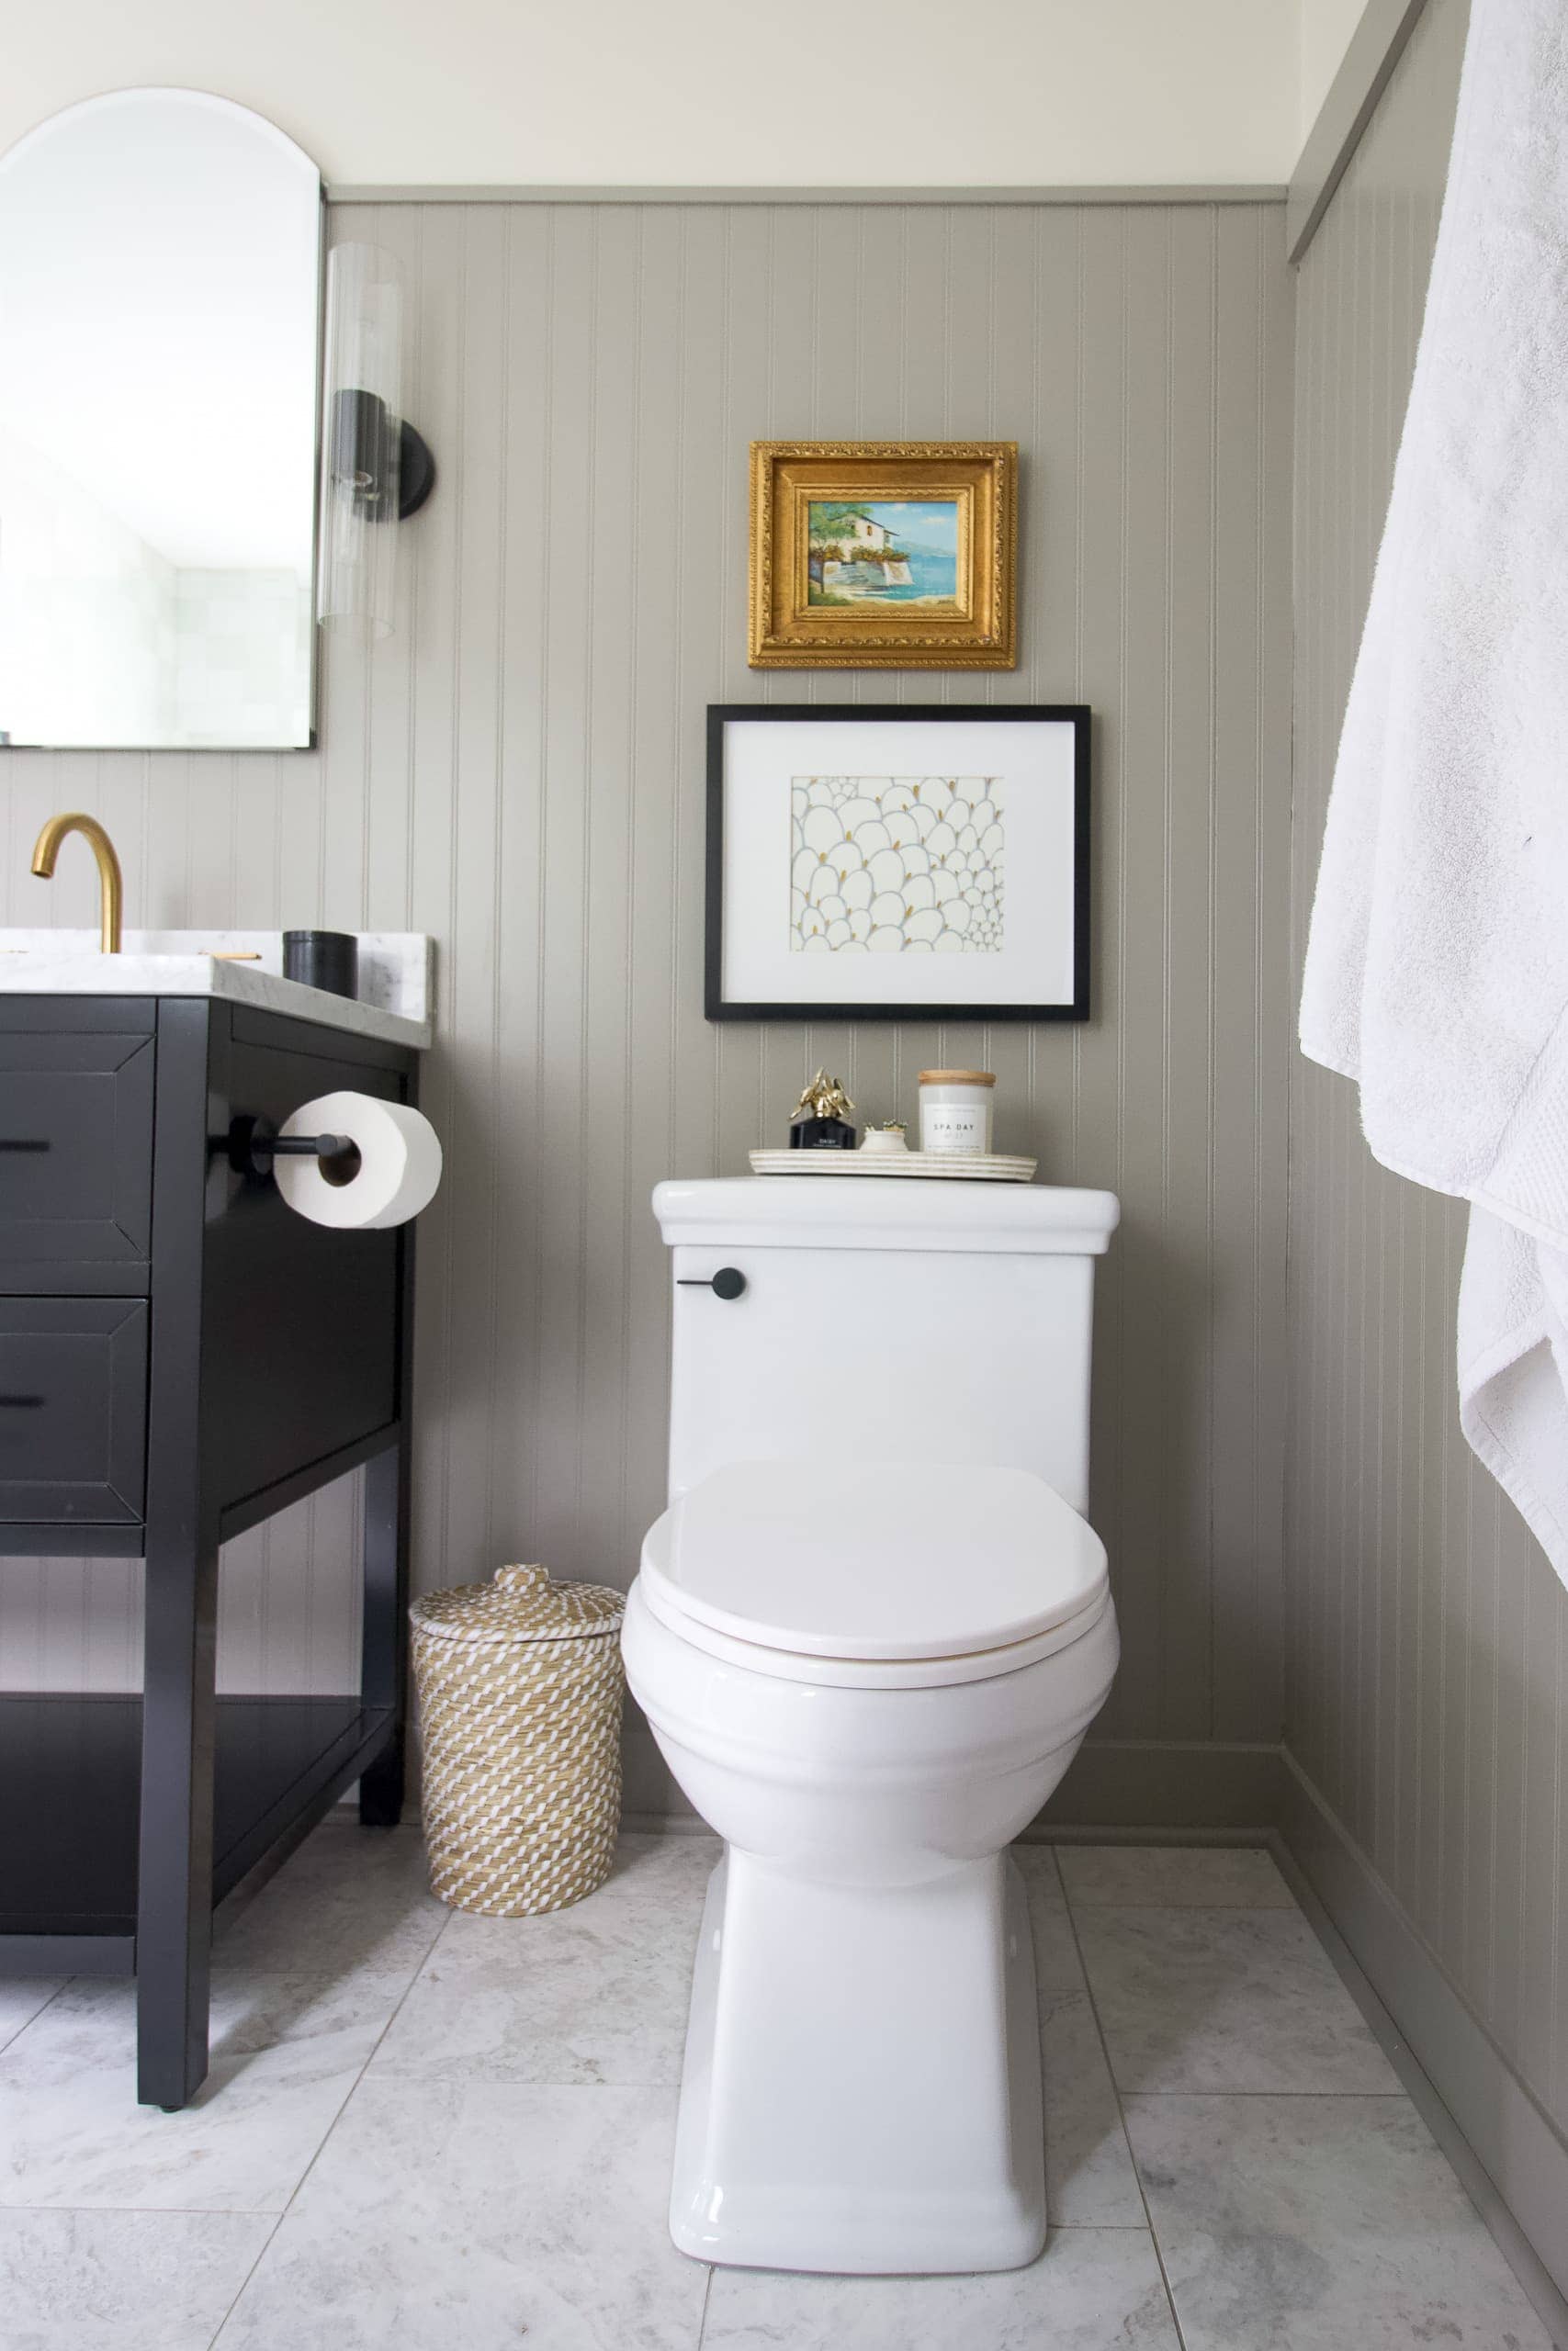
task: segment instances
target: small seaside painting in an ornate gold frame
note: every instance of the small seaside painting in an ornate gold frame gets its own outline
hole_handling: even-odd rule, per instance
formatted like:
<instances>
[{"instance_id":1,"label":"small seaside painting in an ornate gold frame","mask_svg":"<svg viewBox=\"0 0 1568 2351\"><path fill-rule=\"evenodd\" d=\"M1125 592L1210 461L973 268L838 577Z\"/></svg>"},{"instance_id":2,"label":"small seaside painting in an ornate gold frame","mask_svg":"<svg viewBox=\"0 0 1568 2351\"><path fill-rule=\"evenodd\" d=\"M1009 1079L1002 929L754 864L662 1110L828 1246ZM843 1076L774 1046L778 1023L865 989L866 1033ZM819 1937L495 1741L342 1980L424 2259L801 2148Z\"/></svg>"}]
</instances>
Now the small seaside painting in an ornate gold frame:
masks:
<instances>
[{"instance_id":1,"label":"small seaside painting in an ornate gold frame","mask_svg":"<svg viewBox=\"0 0 1568 2351\"><path fill-rule=\"evenodd\" d=\"M752 442L755 670L1011 670L1018 442Z\"/></svg>"}]
</instances>

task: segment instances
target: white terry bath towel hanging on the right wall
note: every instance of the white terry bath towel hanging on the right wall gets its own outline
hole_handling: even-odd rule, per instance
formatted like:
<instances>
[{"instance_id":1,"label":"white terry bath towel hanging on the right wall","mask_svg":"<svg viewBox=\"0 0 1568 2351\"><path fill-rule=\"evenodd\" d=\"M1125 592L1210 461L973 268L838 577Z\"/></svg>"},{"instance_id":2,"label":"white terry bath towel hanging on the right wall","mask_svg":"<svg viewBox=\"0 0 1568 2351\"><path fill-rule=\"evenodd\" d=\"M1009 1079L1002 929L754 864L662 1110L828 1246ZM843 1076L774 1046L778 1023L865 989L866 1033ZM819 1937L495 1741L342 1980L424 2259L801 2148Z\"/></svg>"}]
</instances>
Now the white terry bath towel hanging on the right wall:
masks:
<instances>
[{"instance_id":1,"label":"white terry bath towel hanging on the right wall","mask_svg":"<svg viewBox=\"0 0 1568 2351\"><path fill-rule=\"evenodd\" d=\"M1568 1582L1568 0L1472 7L1300 1037L1472 1201L1460 1418Z\"/></svg>"}]
</instances>

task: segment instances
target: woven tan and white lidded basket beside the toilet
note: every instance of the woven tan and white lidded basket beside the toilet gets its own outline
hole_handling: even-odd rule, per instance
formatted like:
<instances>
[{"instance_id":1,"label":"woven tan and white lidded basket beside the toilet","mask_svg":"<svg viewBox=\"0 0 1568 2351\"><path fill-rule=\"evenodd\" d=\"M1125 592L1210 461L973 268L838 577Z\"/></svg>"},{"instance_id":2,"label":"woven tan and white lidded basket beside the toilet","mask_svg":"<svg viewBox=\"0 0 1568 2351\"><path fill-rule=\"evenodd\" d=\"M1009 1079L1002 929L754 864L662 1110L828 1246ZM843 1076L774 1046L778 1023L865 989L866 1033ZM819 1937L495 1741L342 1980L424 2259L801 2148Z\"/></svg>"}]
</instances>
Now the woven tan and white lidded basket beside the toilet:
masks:
<instances>
[{"instance_id":1,"label":"woven tan and white lidded basket beside the toilet","mask_svg":"<svg viewBox=\"0 0 1568 2351\"><path fill-rule=\"evenodd\" d=\"M609 1876L623 1610L621 1592L538 1566L409 1608L430 1888L454 1909L564 1909Z\"/></svg>"}]
</instances>

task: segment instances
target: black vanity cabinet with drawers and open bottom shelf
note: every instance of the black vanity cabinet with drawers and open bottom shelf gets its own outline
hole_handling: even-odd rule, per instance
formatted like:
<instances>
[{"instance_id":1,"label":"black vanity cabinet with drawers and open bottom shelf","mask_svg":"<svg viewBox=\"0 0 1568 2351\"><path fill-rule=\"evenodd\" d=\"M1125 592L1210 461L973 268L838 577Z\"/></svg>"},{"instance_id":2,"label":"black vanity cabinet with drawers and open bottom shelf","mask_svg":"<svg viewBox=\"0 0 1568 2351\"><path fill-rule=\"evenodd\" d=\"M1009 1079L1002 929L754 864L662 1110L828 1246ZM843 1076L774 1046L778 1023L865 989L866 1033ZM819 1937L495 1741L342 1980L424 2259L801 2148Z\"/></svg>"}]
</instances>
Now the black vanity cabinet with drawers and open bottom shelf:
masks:
<instances>
[{"instance_id":1,"label":"black vanity cabinet with drawers and open bottom shelf","mask_svg":"<svg viewBox=\"0 0 1568 2351\"><path fill-rule=\"evenodd\" d=\"M216 997L0 994L0 1575L146 1561L141 1697L0 1695L0 1972L134 1972L148 2104L207 2074L214 1907L353 1780L402 1808L414 1227L294 1215L237 1121L416 1084ZM357 1465L360 1688L216 1697L219 1545Z\"/></svg>"}]
</instances>

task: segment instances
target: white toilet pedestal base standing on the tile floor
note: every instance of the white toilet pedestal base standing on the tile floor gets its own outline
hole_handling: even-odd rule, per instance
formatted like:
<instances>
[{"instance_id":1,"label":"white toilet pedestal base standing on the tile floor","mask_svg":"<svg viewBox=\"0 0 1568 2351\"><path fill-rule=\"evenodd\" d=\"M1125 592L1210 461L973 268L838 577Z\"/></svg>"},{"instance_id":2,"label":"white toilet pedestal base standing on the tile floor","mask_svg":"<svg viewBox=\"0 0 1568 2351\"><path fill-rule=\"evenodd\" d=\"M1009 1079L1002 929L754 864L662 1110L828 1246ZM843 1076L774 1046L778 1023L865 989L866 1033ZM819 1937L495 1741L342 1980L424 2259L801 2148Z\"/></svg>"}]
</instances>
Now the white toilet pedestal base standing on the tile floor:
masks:
<instances>
[{"instance_id":1,"label":"white toilet pedestal base standing on the tile floor","mask_svg":"<svg viewBox=\"0 0 1568 2351\"><path fill-rule=\"evenodd\" d=\"M691 1987L670 2233L741 2269L1039 2255L1034 1944L1009 1855L865 1888L726 1853Z\"/></svg>"}]
</instances>

